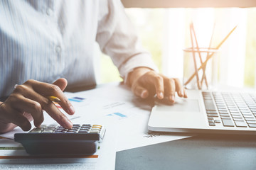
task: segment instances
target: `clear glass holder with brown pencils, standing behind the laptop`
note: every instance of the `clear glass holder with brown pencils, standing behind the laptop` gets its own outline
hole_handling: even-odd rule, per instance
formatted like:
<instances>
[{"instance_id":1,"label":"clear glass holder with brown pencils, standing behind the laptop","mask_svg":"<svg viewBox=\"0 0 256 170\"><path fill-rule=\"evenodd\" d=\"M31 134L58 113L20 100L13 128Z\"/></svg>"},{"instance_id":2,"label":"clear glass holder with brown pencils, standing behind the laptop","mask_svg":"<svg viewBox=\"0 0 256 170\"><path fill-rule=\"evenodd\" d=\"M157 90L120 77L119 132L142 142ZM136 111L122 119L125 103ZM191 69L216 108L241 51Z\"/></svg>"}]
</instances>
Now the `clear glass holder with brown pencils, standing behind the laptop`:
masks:
<instances>
[{"instance_id":1,"label":"clear glass holder with brown pencils, standing behind the laptop","mask_svg":"<svg viewBox=\"0 0 256 170\"><path fill-rule=\"evenodd\" d=\"M183 85L185 88L213 89L218 81L218 50L201 47L186 48L183 52Z\"/></svg>"}]
</instances>

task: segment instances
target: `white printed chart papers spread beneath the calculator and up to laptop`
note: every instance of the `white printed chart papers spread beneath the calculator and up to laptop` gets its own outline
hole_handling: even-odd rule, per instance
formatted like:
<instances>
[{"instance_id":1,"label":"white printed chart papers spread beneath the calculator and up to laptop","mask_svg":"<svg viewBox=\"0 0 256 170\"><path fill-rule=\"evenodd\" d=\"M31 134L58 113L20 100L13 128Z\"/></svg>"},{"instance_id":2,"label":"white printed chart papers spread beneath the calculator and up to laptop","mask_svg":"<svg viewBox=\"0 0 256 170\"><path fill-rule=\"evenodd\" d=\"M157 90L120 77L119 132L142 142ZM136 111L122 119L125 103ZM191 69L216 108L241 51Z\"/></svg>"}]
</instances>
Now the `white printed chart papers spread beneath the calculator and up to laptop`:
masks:
<instances>
[{"instance_id":1,"label":"white printed chart papers spread beneath the calculator and up to laptop","mask_svg":"<svg viewBox=\"0 0 256 170\"><path fill-rule=\"evenodd\" d=\"M137 98L122 84L65 95L75 107L75 114L68 115L57 103L56 106L73 123L106 126L100 149L92 157L39 159L26 154L23 147L14 142L14 133L23 132L16 128L0 135L0 169L114 169L117 151L188 137L150 132L147 123L154 101ZM46 112L43 114L43 124L57 124Z\"/></svg>"}]
</instances>

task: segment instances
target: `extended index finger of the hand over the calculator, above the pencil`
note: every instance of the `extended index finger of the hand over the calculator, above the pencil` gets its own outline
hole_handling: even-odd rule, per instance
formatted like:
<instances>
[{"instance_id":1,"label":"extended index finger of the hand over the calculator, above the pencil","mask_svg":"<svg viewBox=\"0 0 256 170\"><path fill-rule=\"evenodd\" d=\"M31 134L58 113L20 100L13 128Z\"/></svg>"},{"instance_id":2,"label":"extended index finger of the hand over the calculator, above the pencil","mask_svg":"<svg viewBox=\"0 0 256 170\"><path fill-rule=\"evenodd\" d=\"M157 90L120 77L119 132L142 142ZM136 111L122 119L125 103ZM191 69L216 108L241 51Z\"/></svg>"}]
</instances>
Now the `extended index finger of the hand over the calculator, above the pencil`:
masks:
<instances>
[{"instance_id":1,"label":"extended index finger of the hand over the calculator, above the pencil","mask_svg":"<svg viewBox=\"0 0 256 170\"><path fill-rule=\"evenodd\" d=\"M30 82L28 82L30 83ZM73 115L75 113L75 109L73 108L68 98L63 94L63 91L60 89L59 86L55 84L48 84L40 81L33 81L30 84L31 87L36 91L38 94L42 96L56 96L60 99L60 106L63 110L68 113L69 115Z\"/></svg>"}]
</instances>

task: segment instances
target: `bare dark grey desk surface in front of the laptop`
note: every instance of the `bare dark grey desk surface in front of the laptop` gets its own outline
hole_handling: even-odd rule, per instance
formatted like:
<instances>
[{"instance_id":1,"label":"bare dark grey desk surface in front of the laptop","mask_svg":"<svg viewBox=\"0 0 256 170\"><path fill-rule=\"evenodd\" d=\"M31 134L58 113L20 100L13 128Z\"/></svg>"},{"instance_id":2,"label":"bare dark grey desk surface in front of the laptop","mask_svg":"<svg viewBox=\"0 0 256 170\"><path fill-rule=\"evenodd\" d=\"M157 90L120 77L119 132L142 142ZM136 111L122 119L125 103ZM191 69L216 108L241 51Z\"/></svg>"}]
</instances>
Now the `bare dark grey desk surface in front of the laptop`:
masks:
<instances>
[{"instance_id":1,"label":"bare dark grey desk surface in front of the laptop","mask_svg":"<svg viewBox=\"0 0 256 170\"><path fill-rule=\"evenodd\" d=\"M256 136L198 135L117 152L116 170L256 169Z\"/></svg>"}]
</instances>

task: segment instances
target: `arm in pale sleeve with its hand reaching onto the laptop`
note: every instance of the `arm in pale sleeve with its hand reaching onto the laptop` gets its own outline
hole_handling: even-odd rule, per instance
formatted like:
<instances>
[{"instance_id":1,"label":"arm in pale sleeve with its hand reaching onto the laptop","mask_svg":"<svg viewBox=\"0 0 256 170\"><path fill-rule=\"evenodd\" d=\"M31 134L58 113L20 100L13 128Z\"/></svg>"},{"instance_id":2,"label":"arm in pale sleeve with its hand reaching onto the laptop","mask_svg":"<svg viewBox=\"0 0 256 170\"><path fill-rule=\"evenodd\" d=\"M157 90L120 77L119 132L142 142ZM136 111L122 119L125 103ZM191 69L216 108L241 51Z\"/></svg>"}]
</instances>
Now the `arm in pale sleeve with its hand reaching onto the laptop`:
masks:
<instances>
[{"instance_id":1,"label":"arm in pale sleeve with its hand reaching onto the laptop","mask_svg":"<svg viewBox=\"0 0 256 170\"><path fill-rule=\"evenodd\" d=\"M125 84L141 98L156 94L159 99L166 97L174 103L176 92L180 97L187 97L178 79L159 74L151 56L142 48L121 2L109 0L106 3L102 6L107 7L100 13L97 42L102 52L112 57Z\"/></svg>"}]
</instances>

